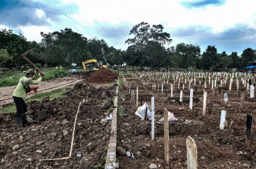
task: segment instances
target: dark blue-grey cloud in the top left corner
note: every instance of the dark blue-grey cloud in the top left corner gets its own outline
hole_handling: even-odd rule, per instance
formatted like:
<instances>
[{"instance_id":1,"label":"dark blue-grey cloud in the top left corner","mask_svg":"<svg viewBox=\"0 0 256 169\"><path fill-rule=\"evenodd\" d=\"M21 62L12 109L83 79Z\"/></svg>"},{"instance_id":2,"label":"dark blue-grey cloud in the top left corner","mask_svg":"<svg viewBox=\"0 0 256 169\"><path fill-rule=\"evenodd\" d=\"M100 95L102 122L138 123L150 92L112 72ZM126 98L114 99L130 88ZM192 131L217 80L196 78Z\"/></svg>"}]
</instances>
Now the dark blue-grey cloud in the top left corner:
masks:
<instances>
[{"instance_id":1,"label":"dark blue-grey cloud in the top left corner","mask_svg":"<svg viewBox=\"0 0 256 169\"><path fill-rule=\"evenodd\" d=\"M61 11L32 0L1 0L1 24L9 27L17 25L49 25L49 20L58 22Z\"/></svg>"}]
</instances>

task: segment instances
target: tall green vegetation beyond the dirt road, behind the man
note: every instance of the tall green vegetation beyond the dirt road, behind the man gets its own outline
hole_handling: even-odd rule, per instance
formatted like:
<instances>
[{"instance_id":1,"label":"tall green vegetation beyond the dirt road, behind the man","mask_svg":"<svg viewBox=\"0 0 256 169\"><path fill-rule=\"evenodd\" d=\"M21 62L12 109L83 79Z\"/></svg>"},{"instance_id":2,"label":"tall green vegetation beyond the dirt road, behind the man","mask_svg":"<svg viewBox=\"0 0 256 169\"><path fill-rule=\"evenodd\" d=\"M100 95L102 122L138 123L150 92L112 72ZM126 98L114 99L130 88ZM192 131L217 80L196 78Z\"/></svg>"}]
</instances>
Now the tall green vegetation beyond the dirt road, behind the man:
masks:
<instances>
[{"instance_id":1,"label":"tall green vegetation beyond the dirt road, behind the man","mask_svg":"<svg viewBox=\"0 0 256 169\"><path fill-rule=\"evenodd\" d=\"M43 73L45 74L45 76L42 79L43 81L68 75L68 72L62 66L52 68L48 72L43 72ZM9 77L5 77L5 78L1 79L0 87L17 85L20 77L22 77L24 75L25 75L24 73L18 73L18 74L9 76ZM38 77L40 77L40 73L38 73L37 78Z\"/></svg>"}]
</instances>

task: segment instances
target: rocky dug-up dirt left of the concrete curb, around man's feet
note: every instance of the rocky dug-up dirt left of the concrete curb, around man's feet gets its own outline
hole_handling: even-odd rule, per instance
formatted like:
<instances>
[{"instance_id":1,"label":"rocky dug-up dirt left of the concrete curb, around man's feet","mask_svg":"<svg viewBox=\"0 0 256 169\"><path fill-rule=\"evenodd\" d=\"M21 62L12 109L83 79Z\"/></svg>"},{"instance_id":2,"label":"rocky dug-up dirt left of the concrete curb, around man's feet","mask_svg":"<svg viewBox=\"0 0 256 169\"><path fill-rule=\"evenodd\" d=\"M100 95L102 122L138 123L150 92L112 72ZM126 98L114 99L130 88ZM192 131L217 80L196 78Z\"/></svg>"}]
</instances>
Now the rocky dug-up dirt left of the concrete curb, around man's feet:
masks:
<instances>
[{"instance_id":1,"label":"rocky dug-up dirt left of the concrete curb, around man's feet","mask_svg":"<svg viewBox=\"0 0 256 169\"><path fill-rule=\"evenodd\" d=\"M27 115L41 121L29 124L27 130L16 131L15 113L0 115L0 169L95 169L104 166L106 145L110 139L109 111L103 100L111 100L116 85L94 88L81 81L68 88L64 97L49 97L27 104ZM69 155L73 125L80 105L74 131L72 160L40 161ZM77 157L76 153L82 156Z\"/></svg>"}]
</instances>

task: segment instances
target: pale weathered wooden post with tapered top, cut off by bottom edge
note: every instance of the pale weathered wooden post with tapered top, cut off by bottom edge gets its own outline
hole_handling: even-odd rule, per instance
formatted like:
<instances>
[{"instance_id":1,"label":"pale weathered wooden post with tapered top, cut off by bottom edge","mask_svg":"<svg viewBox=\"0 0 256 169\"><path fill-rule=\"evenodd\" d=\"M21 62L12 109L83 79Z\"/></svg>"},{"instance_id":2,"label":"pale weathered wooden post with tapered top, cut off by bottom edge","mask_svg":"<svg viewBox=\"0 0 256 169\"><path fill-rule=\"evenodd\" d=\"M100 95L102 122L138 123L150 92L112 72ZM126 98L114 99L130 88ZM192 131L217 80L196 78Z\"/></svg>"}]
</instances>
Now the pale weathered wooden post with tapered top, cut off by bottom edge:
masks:
<instances>
[{"instance_id":1,"label":"pale weathered wooden post with tapered top, cut off by bottom edge","mask_svg":"<svg viewBox=\"0 0 256 169\"><path fill-rule=\"evenodd\" d=\"M186 145L188 169L197 169L197 147L191 136L187 137Z\"/></svg>"}]
</instances>

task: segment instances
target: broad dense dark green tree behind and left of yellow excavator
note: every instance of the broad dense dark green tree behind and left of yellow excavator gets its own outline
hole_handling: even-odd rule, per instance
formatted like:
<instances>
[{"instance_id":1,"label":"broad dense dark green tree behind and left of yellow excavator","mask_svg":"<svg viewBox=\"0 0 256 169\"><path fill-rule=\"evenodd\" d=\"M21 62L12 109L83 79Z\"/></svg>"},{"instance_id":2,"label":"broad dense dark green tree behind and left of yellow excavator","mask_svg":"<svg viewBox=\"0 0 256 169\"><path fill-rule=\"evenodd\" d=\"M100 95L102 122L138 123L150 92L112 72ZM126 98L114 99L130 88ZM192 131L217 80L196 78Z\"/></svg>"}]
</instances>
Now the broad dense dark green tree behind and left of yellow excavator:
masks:
<instances>
[{"instance_id":1,"label":"broad dense dark green tree behind and left of yellow excavator","mask_svg":"<svg viewBox=\"0 0 256 169\"><path fill-rule=\"evenodd\" d=\"M87 38L82 34L73 32L72 29L65 28L60 32L44 34L41 44L45 50L41 53L40 57L53 65L70 65L71 63L80 64L84 60L91 59L91 55L87 46Z\"/></svg>"}]
</instances>

